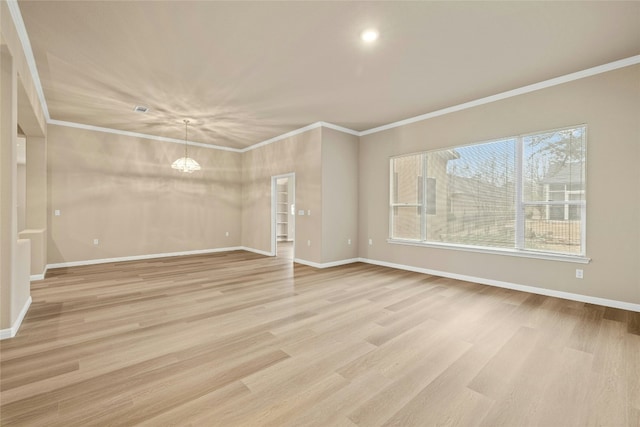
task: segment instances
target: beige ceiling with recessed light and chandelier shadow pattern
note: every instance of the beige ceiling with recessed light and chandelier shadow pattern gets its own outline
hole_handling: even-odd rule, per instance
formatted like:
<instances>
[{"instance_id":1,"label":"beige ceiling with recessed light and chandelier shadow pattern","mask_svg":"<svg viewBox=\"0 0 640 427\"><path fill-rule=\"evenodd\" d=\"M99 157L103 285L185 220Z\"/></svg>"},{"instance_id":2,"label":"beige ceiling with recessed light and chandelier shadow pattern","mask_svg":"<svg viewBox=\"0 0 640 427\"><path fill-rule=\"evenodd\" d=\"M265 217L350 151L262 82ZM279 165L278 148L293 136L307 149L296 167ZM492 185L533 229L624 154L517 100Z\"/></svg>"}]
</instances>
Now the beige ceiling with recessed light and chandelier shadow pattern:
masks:
<instances>
[{"instance_id":1,"label":"beige ceiling with recessed light and chandelier shadow pattern","mask_svg":"<svg viewBox=\"0 0 640 427\"><path fill-rule=\"evenodd\" d=\"M181 139L189 118L190 140L234 149L318 121L364 131L640 54L640 2L18 4L51 119Z\"/></svg>"}]
</instances>

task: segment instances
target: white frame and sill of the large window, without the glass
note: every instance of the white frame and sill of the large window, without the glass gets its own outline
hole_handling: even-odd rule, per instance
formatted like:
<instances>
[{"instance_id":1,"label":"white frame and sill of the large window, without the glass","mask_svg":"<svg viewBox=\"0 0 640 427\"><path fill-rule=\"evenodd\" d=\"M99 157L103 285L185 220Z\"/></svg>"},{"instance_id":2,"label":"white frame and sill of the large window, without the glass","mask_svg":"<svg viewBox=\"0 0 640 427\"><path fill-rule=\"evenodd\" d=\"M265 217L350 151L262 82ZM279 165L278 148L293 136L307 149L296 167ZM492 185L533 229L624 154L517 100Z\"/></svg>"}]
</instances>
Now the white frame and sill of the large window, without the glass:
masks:
<instances>
[{"instance_id":1,"label":"white frame and sill of the large window, without the glass","mask_svg":"<svg viewBox=\"0 0 640 427\"><path fill-rule=\"evenodd\" d=\"M546 133L555 133L559 131L566 131L569 129L582 128L584 131L583 135L583 145L581 147L584 155L582 157L582 188L580 190L571 190L567 189L568 185L565 184L564 190L564 200L540 200L540 201L527 201L525 200L524 195L524 186L525 186L525 177L524 177L524 145L525 138L533 136L533 135L542 135ZM526 257L526 258L538 258L538 259L547 259L547 260L555 260L555 261L567 261L567 262L575 262L581 264L587 264L591 261L590 258L587 257L587 249L586 249L586 222L587 222L587 201L586 201L586 171L587 171L587 133L588 127L586 124L578 124L574 126L565 126L556 129L543 130L539 132L531 132L527 134L521 134L517 136L507 136L503 138L495 138L488 141L474 142L471 144L457 145L454 147L445 147L427 151L420 151L414 153L406 153L397 156L392 156L389 158L389 238L387 239L388 243L392 244L402 244L402 245L410 245L410 246L422 246L422 247L432 247L432 248L440 248L440 249L452 249L452 250L463 250L469 252L480 252L480 253L488 253L488 254L499 254L499 255L508 255L508 256L517 256L517 257ZM428 241L427 240L427 216L429 207L427 206L427 179L428 171L427 171L427 156L430 153L443 152L447 150L454 150L456 148L469 147L481 144L487 144L492 142L504 141L513 139L515 140L515 171L514 171L514 179L516 180L515 187L515 238L514 238L514 247L513 248L503 248L503 247L492 247L492 246L480 246L480 245L466 245L461 243L451 243L451 242L437 242L437 241ZM408 204L408 203L394 203L394 160L410 157L410 156L421 156L422 159L422 194L421 198L422 203L416 204ZM571 200L571 194L582 194L579 200ZM562 253L562 252L553 252L549 250L536 250L526 247L526 239L525 239L525 231L526 231L526 215L525 211L527 207L531 206L546 206L545 211L548 212L549 208L552 206L563 206L564 207L564 215L563 220L567 220L567 215L570 216L571 206L576 206L576 209L580 213L580 248L581 252L579 254L570 254L570 253ZM394 231L394 208L396 207L415 207L420 209L420 236L416 239L410 238L398 238L393 237ZM438 207L435 208L438 210ZM448 208L439 207L439 209L444 209L448 211Z\"/></svg>"}]
</instances>

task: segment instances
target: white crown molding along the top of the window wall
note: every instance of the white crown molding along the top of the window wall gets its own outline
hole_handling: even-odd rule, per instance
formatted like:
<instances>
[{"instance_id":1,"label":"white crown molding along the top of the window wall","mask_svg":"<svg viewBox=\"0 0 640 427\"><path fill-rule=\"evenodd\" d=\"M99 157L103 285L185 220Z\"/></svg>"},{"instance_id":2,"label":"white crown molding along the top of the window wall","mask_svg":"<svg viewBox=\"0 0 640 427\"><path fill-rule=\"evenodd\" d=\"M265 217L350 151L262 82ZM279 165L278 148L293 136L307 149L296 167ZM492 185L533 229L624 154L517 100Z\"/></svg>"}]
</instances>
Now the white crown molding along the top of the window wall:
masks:
<instances>
[{"instance_id":1,"label":"white crown molding along the top of the window wall","mask_svg":"<svg viewBox=\"0 0 640 427\"><path fill-rule=\"evenodd\" d=\"M489 104L491 102L501 101L503 99L512 98L518 95L524 95L526 93L535 92L537 90L546 89L552 86L557 86L563 83L569 83L574 80L583 79L586 77L595 76L597 74L606 73L608 71L617 70L619 68L628 67L631 65L640 64L640 55L632 56L630 58L621 59L619 61L610 62L608 64L599 65L597 67L588 68L586 70L577 71L575 73L567 74L564 76L556 77L553 79L545 80L539 83L523 86L517 89L508 90L496 95L487 96L485 98L476 99L474 101L465 102L463 104L454 105L451 107L436 110L431 113L422 114L419 116L411 117L408 119L400 120L387 125L378 126L372 129L368 129L360 132L360 136L371 135L372 133L378 133L385 130L397 128L400 126L408 125L411 123L421 122L423 120L432 119L438 116L444 116L445 114L455 113L457 111L466 110L480 105Z\"/></svg>"}]
</instances>

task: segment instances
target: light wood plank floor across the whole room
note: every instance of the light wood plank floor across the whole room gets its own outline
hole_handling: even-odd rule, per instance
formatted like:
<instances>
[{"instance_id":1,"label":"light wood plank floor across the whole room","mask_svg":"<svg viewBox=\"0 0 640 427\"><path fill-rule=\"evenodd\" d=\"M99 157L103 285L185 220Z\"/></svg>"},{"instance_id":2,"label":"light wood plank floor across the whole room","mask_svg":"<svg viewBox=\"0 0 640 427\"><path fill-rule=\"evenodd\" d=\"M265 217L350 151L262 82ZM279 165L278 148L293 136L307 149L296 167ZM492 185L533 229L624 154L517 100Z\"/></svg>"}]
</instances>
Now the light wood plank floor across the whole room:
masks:
<instances>
[{"instance_id":1,"label":"light wood plank floor across the whole room","mask_svg":"<svg viewBox=\"0 0 640 427\"><path fill-rule=\"evenodd\" d=\"M638 426L640 314L235 251L53 270L3 426Z\"/></svg>"}]
</instances>

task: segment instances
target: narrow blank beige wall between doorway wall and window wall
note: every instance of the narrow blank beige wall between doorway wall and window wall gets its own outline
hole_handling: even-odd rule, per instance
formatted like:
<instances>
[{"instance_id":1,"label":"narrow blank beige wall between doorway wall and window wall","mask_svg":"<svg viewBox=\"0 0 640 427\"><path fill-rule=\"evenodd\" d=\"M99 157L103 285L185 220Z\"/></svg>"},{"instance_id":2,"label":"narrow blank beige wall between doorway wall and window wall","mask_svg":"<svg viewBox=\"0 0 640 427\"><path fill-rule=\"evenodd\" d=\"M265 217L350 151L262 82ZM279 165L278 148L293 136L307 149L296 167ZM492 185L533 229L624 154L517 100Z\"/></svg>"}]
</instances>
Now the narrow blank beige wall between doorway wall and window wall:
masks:
<instances>
[{"instance_id":1,"label":"narrow blank beige wall between doorway wall and window wall","mask_svg":"<svg viewBox=\"0 0 640 427\"><path fill-rule=\"evenodd\" d=\"M358 142L322 128L323 263L358 257Z\"/></svg>"}]
</instances>

